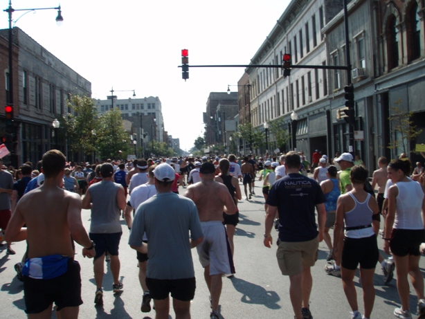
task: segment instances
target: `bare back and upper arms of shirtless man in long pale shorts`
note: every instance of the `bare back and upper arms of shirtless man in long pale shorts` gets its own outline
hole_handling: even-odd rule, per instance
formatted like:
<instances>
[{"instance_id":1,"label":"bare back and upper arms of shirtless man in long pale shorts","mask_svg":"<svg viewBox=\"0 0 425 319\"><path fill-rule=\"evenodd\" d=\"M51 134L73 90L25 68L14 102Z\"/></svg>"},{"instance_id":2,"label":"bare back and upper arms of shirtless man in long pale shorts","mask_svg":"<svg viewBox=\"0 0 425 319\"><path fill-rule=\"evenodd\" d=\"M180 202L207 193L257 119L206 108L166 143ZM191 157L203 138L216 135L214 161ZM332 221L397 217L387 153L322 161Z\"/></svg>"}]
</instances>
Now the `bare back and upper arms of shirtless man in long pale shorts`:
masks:
<instances>
[{"instance_id":1,"label":"bare back and upper arms of shirtless man in long pale shorts","mask_svg":"<svg viewBox=\"0 0 425 319\"><path fill-rule=\"evenodd\" d=\"M200 221L223 221L224 206L229 215L236 212L235 203L226 185L216 181L202 180L190 185L184 196L195 202Z\"/></svg>"}]
</instances>

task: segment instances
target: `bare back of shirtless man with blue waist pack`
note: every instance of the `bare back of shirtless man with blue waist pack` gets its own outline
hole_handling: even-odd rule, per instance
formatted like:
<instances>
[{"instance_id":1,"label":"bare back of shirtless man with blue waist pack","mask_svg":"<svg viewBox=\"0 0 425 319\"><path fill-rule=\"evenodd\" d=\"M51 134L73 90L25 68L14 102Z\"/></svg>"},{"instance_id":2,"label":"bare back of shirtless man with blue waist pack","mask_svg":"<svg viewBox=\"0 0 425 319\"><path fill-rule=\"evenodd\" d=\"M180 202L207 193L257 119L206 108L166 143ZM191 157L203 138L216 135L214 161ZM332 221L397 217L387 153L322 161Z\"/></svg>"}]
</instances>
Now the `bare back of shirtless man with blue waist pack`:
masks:
<instances>
[{"instance_id":1,"label":"bare back of shirtless man with blue waist pack","mask_svg":"<svg viewBox=\"0 0 425 319\"><path fill-rule=\"evenodd\" d=\"M81 208L78 194L57 186L43 185L22 197L16 209L27 226L28 258L55 254L73 257L69 221L78 219Z\"/></svg>"}]
</instances>

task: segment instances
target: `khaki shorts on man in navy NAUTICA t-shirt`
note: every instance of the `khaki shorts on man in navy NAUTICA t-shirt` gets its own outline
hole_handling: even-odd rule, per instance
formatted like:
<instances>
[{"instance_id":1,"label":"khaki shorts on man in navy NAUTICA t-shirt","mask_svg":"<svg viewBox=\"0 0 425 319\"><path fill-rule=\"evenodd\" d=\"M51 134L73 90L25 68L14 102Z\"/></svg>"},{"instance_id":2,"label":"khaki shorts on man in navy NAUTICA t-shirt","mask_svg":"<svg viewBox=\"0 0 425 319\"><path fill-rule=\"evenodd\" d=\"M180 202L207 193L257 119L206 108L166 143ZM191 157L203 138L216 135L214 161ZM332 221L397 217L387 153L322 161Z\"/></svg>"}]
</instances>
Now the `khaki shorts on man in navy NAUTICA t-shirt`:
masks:
<instances>
[{"instance_id":1,"label":"khaki shorts on man in navy NAUTICA t-shirt","mask_svg":"<svg viewBox=\"0 0 425 319\"><path fill-rule=\"evenodd\" d=\"M276 257L282 275L298 275L318 259L318 237L309 241L280 241Z\"/></svg>"}]
</instances>

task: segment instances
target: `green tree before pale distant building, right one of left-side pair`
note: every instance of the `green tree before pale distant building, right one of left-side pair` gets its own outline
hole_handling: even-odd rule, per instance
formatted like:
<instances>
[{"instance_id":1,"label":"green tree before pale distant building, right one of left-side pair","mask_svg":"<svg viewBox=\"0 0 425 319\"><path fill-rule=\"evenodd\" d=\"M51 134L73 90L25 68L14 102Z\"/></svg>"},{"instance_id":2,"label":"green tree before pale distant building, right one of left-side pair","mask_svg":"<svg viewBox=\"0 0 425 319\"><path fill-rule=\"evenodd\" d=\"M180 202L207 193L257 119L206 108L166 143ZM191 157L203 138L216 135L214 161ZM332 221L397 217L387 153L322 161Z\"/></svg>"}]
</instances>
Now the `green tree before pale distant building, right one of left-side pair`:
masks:
<instances>
[{"instance_id":1,"label":"green tree before pale distant building, right one of left-side pair","mask_svg":"<svg viewBox=\"0 0 425 319\"><path fill-rule=\"evenodd\" d=\"M103 159L123 158L125 154L132 154L129 134L124 129L121 111L118 108L110 109L100 116L96 143Z\"/></svg>"}]
</instances>

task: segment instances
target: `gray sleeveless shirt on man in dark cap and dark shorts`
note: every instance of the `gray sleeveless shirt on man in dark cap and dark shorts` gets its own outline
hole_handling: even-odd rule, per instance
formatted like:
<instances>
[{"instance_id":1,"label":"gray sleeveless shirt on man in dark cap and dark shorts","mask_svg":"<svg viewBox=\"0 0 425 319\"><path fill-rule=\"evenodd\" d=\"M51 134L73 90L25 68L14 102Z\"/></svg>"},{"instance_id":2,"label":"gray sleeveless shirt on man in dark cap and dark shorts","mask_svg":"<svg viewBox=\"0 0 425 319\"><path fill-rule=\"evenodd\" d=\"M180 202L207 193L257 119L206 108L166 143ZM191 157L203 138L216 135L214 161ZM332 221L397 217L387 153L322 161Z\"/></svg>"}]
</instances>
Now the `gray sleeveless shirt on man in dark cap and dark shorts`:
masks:
<instances>
[{"instance_id":1,"label":"gray sleeveless shirt on man in dark cap and dark shorts","mask_svg":"<svg viewBox=\"0 0 425 319\"><path fill-rule=\"evenodd\" d=\"M112 181L101 181L88 188L92 203L90 233L113 234L123 231L116 200L118 188L120 184Z\"/></svg>"}]
</instances>

